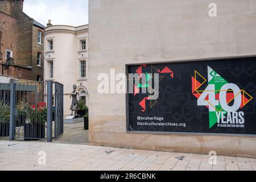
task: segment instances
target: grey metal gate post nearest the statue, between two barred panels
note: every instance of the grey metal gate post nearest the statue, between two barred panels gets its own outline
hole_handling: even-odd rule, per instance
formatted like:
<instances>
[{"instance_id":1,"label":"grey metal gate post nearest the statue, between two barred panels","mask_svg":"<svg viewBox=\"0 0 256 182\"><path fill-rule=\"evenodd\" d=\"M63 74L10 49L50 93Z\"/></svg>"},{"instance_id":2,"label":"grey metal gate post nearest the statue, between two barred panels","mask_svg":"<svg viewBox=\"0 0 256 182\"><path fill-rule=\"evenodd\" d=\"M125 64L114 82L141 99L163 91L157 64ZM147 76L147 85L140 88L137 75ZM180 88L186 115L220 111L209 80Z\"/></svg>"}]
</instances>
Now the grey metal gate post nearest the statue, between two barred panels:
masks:
<instances>
[{"instance_id":1,"label":"grey metal gate post nearest the statue, between two barred panels","mask_svg":"<svg viewBox=\"0 0 256 182\"><path fill-rule=\"evenodd\" d=\"M52 142L52 81L47 81L47 142Z\"/></svg>"}]
</instances>

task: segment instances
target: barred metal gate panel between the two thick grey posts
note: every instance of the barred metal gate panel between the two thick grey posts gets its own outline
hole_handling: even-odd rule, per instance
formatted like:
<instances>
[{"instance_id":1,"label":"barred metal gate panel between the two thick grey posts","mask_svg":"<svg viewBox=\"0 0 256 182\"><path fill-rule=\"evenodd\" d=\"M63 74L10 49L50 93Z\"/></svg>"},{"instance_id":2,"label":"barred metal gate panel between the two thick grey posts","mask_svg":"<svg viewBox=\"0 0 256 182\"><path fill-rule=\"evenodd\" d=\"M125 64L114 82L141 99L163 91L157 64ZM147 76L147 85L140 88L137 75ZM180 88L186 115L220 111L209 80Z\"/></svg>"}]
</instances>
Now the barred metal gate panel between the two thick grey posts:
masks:
<instances>
[{"instance_id":1,"label":"barred metal gate panel between the two thick grey posts","mask_svg":"<svg viewBox=\"0 0 256 182\"><path fill-rule=\"evenodd\" d=\"M46 138L46 88L47 82L11 83L11 120L14 125L10 126L14 127L14 139Z\"/></svg>"}]
</instances>

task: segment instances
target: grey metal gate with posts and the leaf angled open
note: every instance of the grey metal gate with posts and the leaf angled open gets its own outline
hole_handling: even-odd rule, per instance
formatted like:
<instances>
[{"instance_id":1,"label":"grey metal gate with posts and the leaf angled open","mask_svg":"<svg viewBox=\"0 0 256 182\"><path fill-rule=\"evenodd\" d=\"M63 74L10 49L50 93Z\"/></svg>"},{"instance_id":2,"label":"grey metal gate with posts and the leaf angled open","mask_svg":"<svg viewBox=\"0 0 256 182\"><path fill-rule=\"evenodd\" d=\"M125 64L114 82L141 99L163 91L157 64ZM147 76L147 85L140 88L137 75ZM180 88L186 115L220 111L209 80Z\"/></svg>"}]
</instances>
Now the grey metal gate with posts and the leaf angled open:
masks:
<instances>
[{"instance_id":1,"label":"grey metal gate with posts and the leaf angled open","mask_svg":"<svg viewBox=\"0 0 256 182\"><path fill-rule=\"evenodd\" d=\"M12 82L9 131L10 140L52 142L53 132L54 138L60 137L63 134L63 85L52 81Z\"/></svg>"}]
</instances>

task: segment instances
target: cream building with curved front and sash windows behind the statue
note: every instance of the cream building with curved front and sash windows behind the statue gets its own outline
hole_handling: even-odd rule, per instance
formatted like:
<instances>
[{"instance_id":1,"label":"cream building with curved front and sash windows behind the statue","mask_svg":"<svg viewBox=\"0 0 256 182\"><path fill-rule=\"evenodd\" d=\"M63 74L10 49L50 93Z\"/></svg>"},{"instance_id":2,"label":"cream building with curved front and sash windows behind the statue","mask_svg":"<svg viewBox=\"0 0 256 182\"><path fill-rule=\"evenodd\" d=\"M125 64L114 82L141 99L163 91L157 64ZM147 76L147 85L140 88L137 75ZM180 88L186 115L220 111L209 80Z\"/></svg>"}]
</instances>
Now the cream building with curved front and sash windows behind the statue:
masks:
<instances>
[{"instance_id":1,"label":"cream building with curved front and sash windows behind the statue","mask_svg":"<svg viewBox=\"0 0 256 182\"><path fill-rule=\"evenodd\" d=\"M44 81L64 85L64 115L71 114L73 85L80 100L88 97L88 25L72 27L47 24L44 33Z\"/></svg>"}]
</instances>

